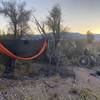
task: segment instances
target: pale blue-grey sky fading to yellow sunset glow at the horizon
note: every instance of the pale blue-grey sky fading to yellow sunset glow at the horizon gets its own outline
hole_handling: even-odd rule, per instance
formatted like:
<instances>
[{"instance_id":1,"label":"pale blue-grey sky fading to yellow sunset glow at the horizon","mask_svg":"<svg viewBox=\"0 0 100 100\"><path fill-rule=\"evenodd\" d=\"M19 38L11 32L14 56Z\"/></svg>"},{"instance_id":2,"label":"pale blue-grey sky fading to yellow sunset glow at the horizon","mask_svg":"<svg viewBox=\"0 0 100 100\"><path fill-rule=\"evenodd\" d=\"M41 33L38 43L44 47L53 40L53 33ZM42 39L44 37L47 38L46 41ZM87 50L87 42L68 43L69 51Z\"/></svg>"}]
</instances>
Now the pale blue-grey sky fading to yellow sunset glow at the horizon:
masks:
<instances>
[{"instance_id":1,"label":"pale blue-grey sky fading to yellow sunset glow at the horizon","mask_svg":"<svg viewBox=\"0 0 100 100\"><path fill-rule=\"evenodd\" d=\"M21 1L21 0L19 0ZM23 0L27 8L35 9L35 16L44 21L55 4L62 8L63 25L72 32L85 34L87 30L100 33L100 0ZM0 28L7 26L7 19L0 15Z\"/></svg>"}]
</instances>

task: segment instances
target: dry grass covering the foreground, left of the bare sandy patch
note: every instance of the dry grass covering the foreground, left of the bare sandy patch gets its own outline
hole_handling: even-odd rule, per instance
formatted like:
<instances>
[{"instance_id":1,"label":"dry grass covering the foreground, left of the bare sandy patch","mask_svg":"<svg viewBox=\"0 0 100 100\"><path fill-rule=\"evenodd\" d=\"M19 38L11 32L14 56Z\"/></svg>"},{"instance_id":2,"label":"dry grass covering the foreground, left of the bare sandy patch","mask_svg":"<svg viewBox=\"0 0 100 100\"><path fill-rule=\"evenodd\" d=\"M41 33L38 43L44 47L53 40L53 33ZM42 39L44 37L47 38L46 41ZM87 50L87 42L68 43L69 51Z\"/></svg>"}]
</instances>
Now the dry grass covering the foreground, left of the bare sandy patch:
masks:
<instances>
[{"instance_id":1,"label":"dry grass covering the foreground, left of the bare sandy patch","mask_svg":"<svg viewBox=\"0 0 100 100\"><path fill-rule=\"evenodd\" d=\"M100 100L87 88L72 88L71 78L54 76L35 81L2 81L6 82L6 87L0 90L0 100Z\"/></svg>"}]
</instances>

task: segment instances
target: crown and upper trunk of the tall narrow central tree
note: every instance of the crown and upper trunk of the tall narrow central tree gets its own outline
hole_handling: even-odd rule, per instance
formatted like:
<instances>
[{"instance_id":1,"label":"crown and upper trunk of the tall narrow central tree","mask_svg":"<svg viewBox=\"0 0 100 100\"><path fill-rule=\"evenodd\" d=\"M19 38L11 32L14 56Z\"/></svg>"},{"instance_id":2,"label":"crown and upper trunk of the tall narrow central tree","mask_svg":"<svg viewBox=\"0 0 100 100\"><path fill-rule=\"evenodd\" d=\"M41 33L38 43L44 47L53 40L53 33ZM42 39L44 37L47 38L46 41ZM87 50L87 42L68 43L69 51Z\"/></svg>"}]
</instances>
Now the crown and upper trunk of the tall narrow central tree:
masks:
<instances>
[{"instance_id":1,"label":"crown and upper trunk of the tall narrow central tree","mask_svg":"<svg viewBox=\"0 0 100 100\"><path fill-rule=\"evenodd\" d=\"M56 5L52 8L47 17L47 26L52 31L55 47L57 46L60 39L61 32L61 8Z\"/></svg>"}]
</instances>

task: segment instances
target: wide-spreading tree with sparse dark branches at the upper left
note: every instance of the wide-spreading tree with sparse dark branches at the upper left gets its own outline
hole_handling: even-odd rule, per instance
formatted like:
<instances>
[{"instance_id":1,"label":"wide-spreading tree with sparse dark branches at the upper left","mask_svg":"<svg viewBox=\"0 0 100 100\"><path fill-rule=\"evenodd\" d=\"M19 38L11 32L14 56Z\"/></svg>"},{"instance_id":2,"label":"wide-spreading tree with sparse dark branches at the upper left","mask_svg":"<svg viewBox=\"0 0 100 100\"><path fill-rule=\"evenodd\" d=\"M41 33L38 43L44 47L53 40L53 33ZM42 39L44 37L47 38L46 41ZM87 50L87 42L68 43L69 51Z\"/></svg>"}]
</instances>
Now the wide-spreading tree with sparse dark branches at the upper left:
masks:
<instances>
[{"instance_id":1,"label":"wide-spreading tree with sparse dark branches at the upper left","mask_svg":"<svg viewBox=\"0 0 100 100\"><path fill-rule=\"evenodd\" d=\"M15 0L2 1L1 3L0 14L4 14L10 19L15 36L19 31L23 33L28 28L31 10L26 10L25 6L25 2L19 4Z\"/></svg>"}]
</instances>

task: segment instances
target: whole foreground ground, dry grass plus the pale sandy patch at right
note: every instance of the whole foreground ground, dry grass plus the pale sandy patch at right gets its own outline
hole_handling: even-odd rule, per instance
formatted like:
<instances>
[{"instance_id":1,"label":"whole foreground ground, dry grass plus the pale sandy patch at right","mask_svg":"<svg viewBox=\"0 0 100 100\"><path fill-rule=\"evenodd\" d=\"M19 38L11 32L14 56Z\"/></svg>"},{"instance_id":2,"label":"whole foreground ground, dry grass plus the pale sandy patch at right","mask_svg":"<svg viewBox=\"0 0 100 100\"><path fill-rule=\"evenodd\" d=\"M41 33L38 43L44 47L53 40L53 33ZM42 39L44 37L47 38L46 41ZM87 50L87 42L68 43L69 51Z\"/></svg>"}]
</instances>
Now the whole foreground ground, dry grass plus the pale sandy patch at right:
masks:
<instances>
[{"instance_id":1,"label":"whole foreground ground, dry grass plus the pale sandy patch at right","mask_svg":"<svg viewBox=\"0 0 100 100\"><path fill-rule=\"evenodd\" d=\"M0 100L100 100L100 79L75 68L76 78L0 79Z\"/></svg>"}]
</instances>

